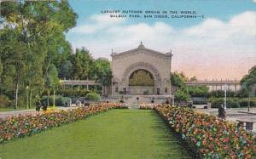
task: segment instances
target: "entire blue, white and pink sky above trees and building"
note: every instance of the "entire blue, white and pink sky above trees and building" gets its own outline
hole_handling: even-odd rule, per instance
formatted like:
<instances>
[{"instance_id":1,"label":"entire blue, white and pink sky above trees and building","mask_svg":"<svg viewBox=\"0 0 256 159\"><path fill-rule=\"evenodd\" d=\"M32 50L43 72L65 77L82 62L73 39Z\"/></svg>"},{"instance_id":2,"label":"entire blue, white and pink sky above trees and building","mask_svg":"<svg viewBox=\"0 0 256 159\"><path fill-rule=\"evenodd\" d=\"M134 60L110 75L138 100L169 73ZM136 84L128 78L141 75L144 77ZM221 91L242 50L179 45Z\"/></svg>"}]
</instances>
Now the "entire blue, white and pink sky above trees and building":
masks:
<instances>
[{"instance_id":1,"label":"entire blue, white and pink sky above trees and building","mask_svg":"<svg viewBox=\"0 0 256 159\"><path fill-rule=\"evenodd\" d=\"M172 71L200 80L239 80L256 65L256 0L71 0L79 15L67 32L73 49L111 60L111 52L146 48L172 50ZM106 10L141 10L140 18L111 18ZM169 18L144 18L146 11L166 11ZM172 13L170 12L172 11ZM197 18L172 18L195 11ZM118 15L118 14L114 14ZM133 14L136 15L136 14ZM149 15L149 14L147 14ZM202 17L203 16L203 17Z\"/></svg>"}]
</instances>

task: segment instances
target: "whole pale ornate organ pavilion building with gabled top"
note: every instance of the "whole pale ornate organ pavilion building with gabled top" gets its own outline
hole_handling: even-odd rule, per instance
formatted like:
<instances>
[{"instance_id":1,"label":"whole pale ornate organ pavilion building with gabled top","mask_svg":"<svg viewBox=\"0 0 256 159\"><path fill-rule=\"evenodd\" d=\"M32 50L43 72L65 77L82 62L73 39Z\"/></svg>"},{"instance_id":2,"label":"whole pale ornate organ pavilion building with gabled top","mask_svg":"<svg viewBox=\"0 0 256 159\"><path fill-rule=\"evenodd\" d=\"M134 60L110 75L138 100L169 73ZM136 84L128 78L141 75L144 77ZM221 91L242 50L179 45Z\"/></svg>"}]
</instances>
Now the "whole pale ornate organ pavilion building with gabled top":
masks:
<instances>
[{"instance_id":1,"label":"whole pale ornate organ pavilion building with gabled top","mask_svg":"<svg viewBox=\"0 0 256 159\"><path fill-rule=\"evenodd\" d=\"M111 56L113 95L171 95L172 52L163 54L145 48L141 43L135 49L112 53ZM154 82L150 85L131 85L131 77L137 71L146 72Z\"/></svg>"}]
</instances>

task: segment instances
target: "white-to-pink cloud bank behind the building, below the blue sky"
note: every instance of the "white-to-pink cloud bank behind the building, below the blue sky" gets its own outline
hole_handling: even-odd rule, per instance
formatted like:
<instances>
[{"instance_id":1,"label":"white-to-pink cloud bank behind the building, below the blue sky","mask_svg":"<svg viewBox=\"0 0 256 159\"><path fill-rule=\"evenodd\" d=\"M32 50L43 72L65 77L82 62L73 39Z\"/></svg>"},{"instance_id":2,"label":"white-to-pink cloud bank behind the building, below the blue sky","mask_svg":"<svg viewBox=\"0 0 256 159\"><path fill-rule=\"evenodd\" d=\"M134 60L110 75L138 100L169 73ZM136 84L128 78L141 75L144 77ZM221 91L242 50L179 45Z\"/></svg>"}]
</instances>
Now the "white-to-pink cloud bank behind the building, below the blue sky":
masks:
<instances>
[{"instance_id":1,"label":"white-to-pink cloud bank behind the building, below the blue sky","mask_svg":"<svg viewBox=\"0 0 256 159\"><path fill-rule=\"evenodd\" d=\"M238 79L255 65L255 20L256 12L244 12L228 21L209 18L196 26L174 29L160 21L132 24L92 15L87 25L75 28L84 36L72 44L85 46L95 57L109 58L112 48L119 53L143 41L146 48L163 53L172 49L172 70L184 71L189 77Z\"/></svg>"}]
</instances>

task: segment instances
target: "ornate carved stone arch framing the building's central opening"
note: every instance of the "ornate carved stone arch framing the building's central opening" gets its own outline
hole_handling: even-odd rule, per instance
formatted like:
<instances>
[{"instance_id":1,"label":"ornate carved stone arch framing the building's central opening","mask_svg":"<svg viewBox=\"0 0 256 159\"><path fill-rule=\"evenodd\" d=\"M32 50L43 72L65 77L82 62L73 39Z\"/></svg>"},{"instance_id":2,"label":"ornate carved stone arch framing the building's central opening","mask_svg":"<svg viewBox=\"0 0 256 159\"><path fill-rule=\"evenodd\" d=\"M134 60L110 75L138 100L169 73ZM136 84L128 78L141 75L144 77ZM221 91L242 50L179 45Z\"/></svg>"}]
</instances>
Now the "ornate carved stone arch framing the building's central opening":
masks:
<instances>
[{"instance_id":1,"label":"ornate carved stone arch framing the building's central opening","mask_svg":"<svg viewBox=\"0 0 256 159\"><path fill-rule=\"evenodd\" d=\"M148 71L154 77L154 94L158 94L158 89L160 89L161 84L160 72L154 67L154 65L150 65L145 62L131 64L125 69L122 77L122 83L125 85L126 89L129 90L129 78L131 77L131 74L137 70Z\"/></svg>"}]
</instances>

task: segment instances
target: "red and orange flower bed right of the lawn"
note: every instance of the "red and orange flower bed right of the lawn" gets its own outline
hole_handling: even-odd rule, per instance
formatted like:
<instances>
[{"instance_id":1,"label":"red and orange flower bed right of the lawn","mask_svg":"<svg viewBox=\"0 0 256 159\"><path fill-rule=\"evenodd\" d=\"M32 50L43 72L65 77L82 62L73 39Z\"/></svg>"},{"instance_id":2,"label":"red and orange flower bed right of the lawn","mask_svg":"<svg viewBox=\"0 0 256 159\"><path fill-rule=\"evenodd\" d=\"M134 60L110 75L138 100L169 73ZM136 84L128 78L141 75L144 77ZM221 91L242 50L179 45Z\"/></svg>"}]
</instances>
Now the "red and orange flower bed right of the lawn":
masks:
<instances>
[{"instance_id":1,"label":"red and orange flower bed right of the lawn","mask_svg":"<svg viewBox=\"0 0 256 159\"><path fill-rule=\"evenodd\" d=\"M186 107L157 105L154 109L202 158L256 158L255 136L233 122Z\"/></svg>"}]
</instances>

